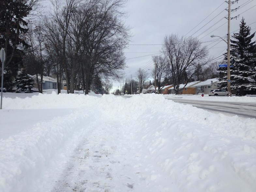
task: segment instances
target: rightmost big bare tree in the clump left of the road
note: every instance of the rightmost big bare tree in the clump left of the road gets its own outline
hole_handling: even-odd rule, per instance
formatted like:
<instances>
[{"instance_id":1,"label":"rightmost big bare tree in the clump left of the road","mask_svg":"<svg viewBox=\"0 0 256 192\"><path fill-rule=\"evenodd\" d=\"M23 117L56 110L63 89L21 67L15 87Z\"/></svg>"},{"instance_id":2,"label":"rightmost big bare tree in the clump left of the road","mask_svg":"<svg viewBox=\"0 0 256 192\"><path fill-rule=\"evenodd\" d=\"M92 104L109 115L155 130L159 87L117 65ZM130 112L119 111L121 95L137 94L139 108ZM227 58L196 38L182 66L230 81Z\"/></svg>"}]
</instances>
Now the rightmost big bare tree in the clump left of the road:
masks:
<instances>
[{"instance_id":1,"label":"rightmost big bare tree in the clump left of the road","mask_svg":"<svg viewBox=\"0 0 256 192\"><path fill-rule=\"evenodd\" d=\"M94 2L94 1L93 1ZM101 76L118 79L125 67L123 50L128 42L129 29L122 22L124 13L119 11L125 0L99 0L93 6L83 31L85 94L88 94L92 79ZM88 11L87 11L88 13Z\"/></svg>"}]
</instances>

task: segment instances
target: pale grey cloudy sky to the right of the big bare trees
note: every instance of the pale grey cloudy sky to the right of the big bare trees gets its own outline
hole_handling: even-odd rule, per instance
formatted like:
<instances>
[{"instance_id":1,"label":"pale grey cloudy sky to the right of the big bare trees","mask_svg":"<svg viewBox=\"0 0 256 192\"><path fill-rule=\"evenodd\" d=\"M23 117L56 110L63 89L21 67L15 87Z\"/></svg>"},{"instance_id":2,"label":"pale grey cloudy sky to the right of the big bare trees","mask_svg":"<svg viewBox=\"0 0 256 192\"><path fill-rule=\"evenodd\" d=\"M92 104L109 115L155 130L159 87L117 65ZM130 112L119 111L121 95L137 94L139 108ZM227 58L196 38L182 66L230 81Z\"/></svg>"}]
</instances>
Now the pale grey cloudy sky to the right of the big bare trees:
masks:
<instances>
[{"instance_id":1,"label":"pale grey cloudy sky to the right of the big bare trees","mask_svg":"<svg viewBox=\"0 0 256 192\"><path fill-rule=\"evenodd\" d=\"M228 33L227 17L228 3L224 0L128 0L125 19L133 37L125 50L127 78L136 78L136 71L153 69L152 55L157 55L166 35L198 37L209 49L209 56L217 58L225 51L227 44L218 37L226 38ZM239 23L244 17L251 32L256 31L256 0L239 0L231 6L231 35L239 29ZM254 40L256 40L254 38ZM147 55L147 56L145 56ZM150 70L148 70L150 73ZM114 82L113 90L120 88L123 81Z\"/></svg>"}]
</instances>

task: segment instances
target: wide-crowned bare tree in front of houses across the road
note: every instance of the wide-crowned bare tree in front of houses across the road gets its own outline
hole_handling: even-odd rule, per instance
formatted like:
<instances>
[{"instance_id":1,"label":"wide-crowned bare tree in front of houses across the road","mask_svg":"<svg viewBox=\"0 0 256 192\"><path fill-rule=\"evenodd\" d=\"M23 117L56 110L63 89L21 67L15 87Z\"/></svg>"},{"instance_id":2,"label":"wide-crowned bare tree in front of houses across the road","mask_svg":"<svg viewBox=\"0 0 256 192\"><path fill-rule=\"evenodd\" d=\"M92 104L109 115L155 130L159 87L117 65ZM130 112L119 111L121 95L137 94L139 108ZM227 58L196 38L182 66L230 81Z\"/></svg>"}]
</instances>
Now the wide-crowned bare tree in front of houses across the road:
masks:
<instances>
[{"instance_id":1,"label":"wide-crowned bare tree in front of houses across the road","mask_svg":"<svg viewBox=\"0 0 256 192\"><path fill-rule=\"evenodd\" d=\"M183 83L184 77L185 83L188 83L194 76L197 64L204 66L207 63L208 50L205 46L201 47L201 42L194 37L166 36L162 52L168 62L168 71L173 80L175 94L178 94L179 84Z\"/></svg>"}]
</instances>

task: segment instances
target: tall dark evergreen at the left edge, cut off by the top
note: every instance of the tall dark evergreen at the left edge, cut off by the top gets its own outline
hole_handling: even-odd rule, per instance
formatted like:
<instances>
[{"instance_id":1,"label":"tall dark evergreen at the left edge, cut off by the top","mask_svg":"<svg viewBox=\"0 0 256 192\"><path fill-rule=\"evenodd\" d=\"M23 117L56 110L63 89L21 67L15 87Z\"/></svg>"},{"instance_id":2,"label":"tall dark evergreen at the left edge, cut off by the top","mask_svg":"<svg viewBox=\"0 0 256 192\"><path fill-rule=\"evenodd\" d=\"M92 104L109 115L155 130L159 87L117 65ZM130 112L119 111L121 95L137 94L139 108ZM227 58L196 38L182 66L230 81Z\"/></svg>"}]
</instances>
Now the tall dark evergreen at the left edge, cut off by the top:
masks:
<instances>
[{"instance_id":1,"label":"tall dark evergreen at the left edge, cut off by the top","mask_svg":"<svg viewBox=\"0 0 256 192\"><path fill-rule=\"evenodd\" d=\"M28 47L24 34L27 33L27 19L32 7L38 0L1 0L0 1L0 48L5 48L5 86L12 89L12 81L22 66L23 51ZM1 66L0 66L1 68ZM1 81L1 79L0 79Z\"/></svg>"}]
</instances>

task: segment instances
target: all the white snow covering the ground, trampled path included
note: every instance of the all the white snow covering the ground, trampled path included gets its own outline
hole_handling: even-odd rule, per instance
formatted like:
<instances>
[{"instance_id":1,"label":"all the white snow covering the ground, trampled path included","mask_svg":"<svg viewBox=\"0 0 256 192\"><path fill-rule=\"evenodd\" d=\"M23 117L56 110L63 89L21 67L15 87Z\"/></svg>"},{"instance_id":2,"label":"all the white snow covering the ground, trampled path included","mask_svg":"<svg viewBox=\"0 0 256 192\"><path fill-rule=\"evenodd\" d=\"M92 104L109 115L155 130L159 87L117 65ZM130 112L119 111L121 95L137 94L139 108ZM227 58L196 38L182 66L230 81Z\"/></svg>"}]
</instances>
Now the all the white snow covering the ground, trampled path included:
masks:
<instances>
[{"instance_id":1,"label":"all the white snow covering the ground, trampled path included","mask_svg":"<svg viewBox=\"0 0 256 192\"><path fill-rule=\"evenodd\" d=\"M51 91L4 93L2 192L255 191L256 119L166 97L254 103L256 97Z\"/></svg>"}]
</instances>

